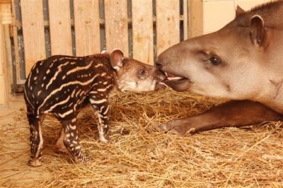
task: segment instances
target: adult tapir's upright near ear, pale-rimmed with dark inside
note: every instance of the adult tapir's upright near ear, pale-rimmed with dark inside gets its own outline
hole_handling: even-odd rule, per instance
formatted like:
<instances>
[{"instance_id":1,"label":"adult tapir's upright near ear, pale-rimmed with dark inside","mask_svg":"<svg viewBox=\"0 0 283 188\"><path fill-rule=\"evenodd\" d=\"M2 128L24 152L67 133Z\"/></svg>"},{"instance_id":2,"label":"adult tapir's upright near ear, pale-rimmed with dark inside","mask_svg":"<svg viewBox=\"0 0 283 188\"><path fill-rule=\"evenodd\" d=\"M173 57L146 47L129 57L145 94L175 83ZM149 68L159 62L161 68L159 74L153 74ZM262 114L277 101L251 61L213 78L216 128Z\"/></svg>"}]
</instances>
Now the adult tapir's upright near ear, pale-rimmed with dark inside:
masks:
<instances>
[{"instance_id":1,"label":"adult tapir's upright near ear, pale-rimmed with dark inside","mask_svg":"<svg viewBox=\"0 0 283 188\"><path fill-rule=\"evenodd\" d=\"M266 35L263 19L259 15L253 16L250 27L250 39L253 45L260 47Z\"/></svg>"}]
</instances>

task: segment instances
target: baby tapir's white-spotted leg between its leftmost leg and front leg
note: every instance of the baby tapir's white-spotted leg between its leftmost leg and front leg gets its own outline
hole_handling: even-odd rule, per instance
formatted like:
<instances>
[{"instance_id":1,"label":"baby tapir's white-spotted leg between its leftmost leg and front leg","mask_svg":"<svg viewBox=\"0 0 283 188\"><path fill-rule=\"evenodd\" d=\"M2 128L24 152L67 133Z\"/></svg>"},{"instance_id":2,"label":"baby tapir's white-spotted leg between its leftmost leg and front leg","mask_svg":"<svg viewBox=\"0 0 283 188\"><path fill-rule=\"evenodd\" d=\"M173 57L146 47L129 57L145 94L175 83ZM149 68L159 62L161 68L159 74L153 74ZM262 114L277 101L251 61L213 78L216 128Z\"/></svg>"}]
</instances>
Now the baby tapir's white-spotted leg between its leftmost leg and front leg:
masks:
<instances>
[{"instance_id":1,"label":"baby tapir's white-spotted leg between its leftmost leg and front leg","mask_svg":"<svg viewBox=\"0 0 283 188\"><path fill-rule=\"evenodd\" d=\"M76 129L76 117L73 119L60 119L60 122L62 123L62 129L64 131L60 137L64 135L64 145L73 156L74 162L76 164L87 163L86 157L83 155L81 146L79 145L79 135Z\"/></svg>"}]
</instances>

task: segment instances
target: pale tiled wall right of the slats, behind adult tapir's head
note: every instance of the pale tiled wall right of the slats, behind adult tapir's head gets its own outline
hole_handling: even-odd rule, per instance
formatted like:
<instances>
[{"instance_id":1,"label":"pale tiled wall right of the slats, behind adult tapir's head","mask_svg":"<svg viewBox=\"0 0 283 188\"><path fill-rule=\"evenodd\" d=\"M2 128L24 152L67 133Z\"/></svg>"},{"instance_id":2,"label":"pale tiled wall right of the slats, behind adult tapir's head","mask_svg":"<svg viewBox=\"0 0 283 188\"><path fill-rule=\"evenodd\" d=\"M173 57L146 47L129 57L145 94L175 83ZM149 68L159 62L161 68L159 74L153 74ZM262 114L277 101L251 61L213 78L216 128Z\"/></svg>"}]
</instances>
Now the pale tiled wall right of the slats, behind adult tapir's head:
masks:
<instances>
[{"instance_id":1,"label":"pale tiled wall right of the slats, behind adult tapir's head","mask_svg":"<svg viewBox=\"0 0 283 188\"><path fill-rule=\"evenodd\" d=\"M223 28L233 18L237 5L245 11L272 0L189 0L190 37L212 33Z\"/></svg>"}]
</instances>

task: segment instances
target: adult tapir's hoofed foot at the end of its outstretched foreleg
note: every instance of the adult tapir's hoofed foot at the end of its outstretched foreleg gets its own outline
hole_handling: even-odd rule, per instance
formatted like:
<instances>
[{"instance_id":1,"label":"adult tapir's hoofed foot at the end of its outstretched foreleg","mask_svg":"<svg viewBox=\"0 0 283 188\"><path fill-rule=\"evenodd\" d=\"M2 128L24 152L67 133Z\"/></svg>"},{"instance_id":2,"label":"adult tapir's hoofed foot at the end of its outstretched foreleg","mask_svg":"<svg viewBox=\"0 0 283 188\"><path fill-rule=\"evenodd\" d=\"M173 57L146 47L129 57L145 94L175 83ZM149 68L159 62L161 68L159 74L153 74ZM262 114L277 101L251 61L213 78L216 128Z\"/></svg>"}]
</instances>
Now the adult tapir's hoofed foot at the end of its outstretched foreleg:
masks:
<instances>
[{"instance_id":1,"label":"adult tapir's hoofed foot at the end of its outstretched foreleg","mask_svg":"<svg viewBox=\"0 0 283 188\"><path fill-rule=\"evenodd\" d=\"M188 130L187 124L180 119L175 119L172 122L166 122L158 126L160 131L169 132L170 134L184 135L187 131L194 132L194 129Z\"/></svg>"}]
</instances>

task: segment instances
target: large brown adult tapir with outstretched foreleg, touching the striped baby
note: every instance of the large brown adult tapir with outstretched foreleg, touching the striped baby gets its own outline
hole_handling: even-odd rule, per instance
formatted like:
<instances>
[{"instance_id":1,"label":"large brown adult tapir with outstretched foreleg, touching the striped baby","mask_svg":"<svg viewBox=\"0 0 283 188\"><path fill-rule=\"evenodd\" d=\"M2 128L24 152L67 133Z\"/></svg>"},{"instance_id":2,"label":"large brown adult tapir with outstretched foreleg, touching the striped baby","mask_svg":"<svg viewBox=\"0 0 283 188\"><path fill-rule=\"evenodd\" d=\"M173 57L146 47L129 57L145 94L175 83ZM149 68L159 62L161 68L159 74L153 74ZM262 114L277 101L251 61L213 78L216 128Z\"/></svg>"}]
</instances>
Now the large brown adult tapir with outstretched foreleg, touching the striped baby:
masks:
<instances>
[{"instance_id":1,"label":"large brown adult tapir with outstretched foreleg, touching the striped baby","mask_svg":"<svg viewBox=\"0 0 283 188\"><path fill-rule=\"evenodd\" d=\"M197 116L161 124L185 134L283 119L283 1L238 7L224 28L166 49L156 65L175 77L166 85L228 99Z\"/></svg>"}]
</instances>

